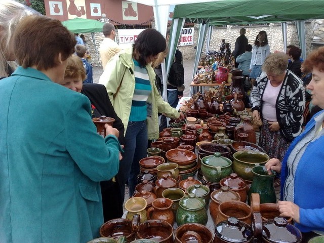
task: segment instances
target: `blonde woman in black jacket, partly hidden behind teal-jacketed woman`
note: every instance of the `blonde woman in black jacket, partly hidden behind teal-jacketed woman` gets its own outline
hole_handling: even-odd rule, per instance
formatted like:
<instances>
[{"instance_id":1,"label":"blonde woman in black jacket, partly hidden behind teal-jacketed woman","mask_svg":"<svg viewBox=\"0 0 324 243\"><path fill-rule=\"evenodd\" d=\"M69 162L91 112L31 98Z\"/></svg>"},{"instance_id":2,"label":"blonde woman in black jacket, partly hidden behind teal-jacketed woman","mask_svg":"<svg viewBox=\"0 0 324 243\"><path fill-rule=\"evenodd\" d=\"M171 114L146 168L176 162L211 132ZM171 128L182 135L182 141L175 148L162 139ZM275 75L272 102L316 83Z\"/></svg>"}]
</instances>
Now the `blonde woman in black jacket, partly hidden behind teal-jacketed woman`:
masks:
<instances>
[{"instance_id":1,"label":"blonde woman in black jacket, partly hidden behind teal-jacketed woman","mask_svg":"<svg viewBox=\"0 0 324 243\"><path fill-rule=\"evenodd\" d=\"M72 55L68 58L64 80L60 85L82 93L89 98L92 107L92 118L101 115L114 118L115 121L112 127L119 131L118 141L125 146L124 125L113 109L106 87L100 84L83 84L85 77L86 72L82 61L77 56ZM118 174L119 171L113 179L100 182L104 222L123 216L124 201L120 194Z\"/></svg>"}]
</instances>

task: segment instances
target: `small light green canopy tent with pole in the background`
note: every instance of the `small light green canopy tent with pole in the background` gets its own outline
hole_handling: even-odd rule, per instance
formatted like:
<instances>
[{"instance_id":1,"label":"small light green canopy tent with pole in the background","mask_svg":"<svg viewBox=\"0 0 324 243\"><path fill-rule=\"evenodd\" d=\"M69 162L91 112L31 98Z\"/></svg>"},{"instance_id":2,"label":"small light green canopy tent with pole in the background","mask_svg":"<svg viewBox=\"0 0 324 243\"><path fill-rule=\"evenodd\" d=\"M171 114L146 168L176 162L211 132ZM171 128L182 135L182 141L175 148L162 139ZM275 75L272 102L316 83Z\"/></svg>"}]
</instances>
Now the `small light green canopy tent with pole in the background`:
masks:
<instances>
[{"instance_id":1,"label":"small light green canopy tent with pole in the background","mask_svg":"<svg viewBox=\"0 0 324 243\"><path fill-rule=\"evenodd\" d=\"M63 21L62 24L72 33L91 33L98 61L100 60L95 39L95 32L102 32L102 26L105 23L94 19L74 18Z\"/></svg>"}]
</instances>

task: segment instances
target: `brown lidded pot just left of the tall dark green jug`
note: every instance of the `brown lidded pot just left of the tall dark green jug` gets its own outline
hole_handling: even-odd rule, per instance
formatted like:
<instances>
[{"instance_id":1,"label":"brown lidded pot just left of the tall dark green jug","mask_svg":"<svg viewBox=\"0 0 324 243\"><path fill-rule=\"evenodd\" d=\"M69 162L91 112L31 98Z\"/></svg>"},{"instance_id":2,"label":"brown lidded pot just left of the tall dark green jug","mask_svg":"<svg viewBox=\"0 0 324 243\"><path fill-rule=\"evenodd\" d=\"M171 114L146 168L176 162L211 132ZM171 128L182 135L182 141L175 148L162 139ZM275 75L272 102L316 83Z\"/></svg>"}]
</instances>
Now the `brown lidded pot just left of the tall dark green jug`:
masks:
<instances>
[{"instance_id":1,"label":"brown lidded pot just left of the tall dark green jug","mask_svg":"<svg viewBox=\"0 0 324 243\"><path fill-rule=\"evenodd\" d=\"M229 176L220 180L221 186L228 186L229 189L239 194L240 200L244 203L247 200L247 183L242 178L238 177L236 173L231 173Z\"/></svg>"}]
</instances>

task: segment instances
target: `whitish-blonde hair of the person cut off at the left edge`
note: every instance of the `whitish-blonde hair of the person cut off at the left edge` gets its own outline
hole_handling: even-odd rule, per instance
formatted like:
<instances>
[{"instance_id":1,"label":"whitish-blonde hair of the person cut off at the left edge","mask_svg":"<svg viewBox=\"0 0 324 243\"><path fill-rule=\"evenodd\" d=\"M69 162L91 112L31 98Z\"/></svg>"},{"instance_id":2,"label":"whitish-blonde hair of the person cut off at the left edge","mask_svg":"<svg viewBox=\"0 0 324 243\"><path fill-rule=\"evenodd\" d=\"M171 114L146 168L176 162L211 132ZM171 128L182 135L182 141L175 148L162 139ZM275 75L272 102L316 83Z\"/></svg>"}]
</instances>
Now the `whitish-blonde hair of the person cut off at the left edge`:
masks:
<instances>
[{"instance_id":1,"label":"whitish-blonde hair of the person cut off at the left edge","mask_svg":"<svg viewBox=\"0 0 324 243\"><path fill-rule=\"evenodd\" d=\"M0 76L2 77L8 76L5 53L8 53L9 46L13 42L13 33L20 20L31 13L25 5L15 1L0 2Z\"/></svg>"}]
</instances>

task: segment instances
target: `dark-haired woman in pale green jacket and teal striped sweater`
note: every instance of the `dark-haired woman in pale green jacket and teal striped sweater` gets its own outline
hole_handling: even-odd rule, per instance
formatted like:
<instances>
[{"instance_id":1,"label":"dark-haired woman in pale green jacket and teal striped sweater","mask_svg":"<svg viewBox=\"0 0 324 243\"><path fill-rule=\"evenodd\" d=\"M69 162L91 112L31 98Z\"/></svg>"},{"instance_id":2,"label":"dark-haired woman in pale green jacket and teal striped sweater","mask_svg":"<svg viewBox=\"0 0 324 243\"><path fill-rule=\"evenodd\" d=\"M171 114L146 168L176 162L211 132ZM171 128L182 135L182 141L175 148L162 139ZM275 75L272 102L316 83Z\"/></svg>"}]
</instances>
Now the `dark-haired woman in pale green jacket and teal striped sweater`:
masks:
<instances>
[{"instance_id":1,"label":"dark-haired woman in pale green jacket and teal striped sweater","mask_svg":"<svg viewBox=\"0 0 324 243\"><path fill-rule=\"evenodd\" d=\"M127 182L130 196L135 191L139 160L147 156L147 140L158 138L157 113L178 118L183 114L164 102L155 85L151 63L166 49L166 39L157 30L142 31L132 48L109 60L99 83L107 92L115 112L125 126L125 153L120 161L120 182ZM125 183L121 186L124 194Z\"/></svg>"}]
</instances>

